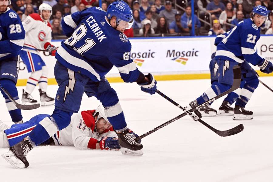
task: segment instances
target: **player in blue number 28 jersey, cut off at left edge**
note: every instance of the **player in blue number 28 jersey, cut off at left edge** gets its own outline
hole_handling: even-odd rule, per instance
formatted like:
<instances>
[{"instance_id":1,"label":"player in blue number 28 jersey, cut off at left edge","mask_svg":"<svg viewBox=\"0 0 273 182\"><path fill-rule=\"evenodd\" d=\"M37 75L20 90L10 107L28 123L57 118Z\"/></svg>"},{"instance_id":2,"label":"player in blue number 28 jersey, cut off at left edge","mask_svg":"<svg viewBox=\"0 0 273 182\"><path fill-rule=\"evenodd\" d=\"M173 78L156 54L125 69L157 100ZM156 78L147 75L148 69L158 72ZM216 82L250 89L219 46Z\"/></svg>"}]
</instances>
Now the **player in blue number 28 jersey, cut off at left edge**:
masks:
<instances>
[{"instance_id":1,"label":"player in blue number 28 jersey, cut off at left edge","mask_svg":"<svg viewBox=\"0 0 273 182\"><path fill-rule=\"evenodd\" d=\"M11 0L0 1L0 84L8 93L19 101L15 87L19 70L19 51L25 39L25 30L19 16L8 7ZM18 109L2 91L8 112L14 123L22 123L21 110Z\"/></svg>"}]
</instances>

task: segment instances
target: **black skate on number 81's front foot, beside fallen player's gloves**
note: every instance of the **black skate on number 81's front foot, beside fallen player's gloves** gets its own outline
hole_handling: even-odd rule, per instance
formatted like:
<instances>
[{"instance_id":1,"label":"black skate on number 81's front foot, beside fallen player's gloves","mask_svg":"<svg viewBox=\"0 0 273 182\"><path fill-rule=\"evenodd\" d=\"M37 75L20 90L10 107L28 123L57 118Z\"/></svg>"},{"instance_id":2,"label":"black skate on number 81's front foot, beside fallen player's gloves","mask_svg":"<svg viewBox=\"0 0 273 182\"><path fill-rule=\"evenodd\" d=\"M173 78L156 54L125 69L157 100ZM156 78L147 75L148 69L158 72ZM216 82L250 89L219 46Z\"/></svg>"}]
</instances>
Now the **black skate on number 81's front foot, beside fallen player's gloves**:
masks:
<instances>
[{"instance_id":1,"label":"black skate on number 81's front foot, beside fallen player's gloves","mask_svg":"<svg viewBox=\"0 0 273 182\"><path fill-rule=\"evenodd\" d=\"M142 144L136 142L136 134L128 128L121 133L117 133L120 150L123 154L127 155L143 155L141 149Z\"/></svg>"}]
</instances>

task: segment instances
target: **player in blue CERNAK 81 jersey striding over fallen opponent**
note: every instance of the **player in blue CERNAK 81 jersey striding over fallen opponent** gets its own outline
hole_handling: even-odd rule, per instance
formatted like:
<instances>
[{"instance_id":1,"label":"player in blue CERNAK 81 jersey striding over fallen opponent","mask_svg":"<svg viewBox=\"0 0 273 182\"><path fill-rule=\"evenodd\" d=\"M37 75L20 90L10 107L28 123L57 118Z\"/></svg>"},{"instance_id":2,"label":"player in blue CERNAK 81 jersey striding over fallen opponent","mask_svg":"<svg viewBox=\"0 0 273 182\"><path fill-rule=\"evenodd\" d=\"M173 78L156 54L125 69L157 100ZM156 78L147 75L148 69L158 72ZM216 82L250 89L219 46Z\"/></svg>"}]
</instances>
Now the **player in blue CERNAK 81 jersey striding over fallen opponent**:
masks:
<instances>
[{"instance_id":1,"label":"player in blue CERNAK 81 jersey striding over fallen opponent","mask_svg":"<svg viewBox=\"0 0 273 182\"><path fill-rule=\"evenodd\" d=\"M55 110L28 137L10 148L25 167L29 165L26 160L29 150L69 125L72 113L79 111L83 93L95 96L103 104L118 135L122 153L143 154L142 144L134 140L136 135L127 128L118 96L105 78L116 66L125 82L136 82L142 91L155 93L154 77L144 76L130 57L131 44L123 32L132 24L132 10L122 0L111 3L107 12L92 7L62 19L62 28L69 38L62 41L56 53L54 73L59 89Z\"/></svg>"}]
</instances>

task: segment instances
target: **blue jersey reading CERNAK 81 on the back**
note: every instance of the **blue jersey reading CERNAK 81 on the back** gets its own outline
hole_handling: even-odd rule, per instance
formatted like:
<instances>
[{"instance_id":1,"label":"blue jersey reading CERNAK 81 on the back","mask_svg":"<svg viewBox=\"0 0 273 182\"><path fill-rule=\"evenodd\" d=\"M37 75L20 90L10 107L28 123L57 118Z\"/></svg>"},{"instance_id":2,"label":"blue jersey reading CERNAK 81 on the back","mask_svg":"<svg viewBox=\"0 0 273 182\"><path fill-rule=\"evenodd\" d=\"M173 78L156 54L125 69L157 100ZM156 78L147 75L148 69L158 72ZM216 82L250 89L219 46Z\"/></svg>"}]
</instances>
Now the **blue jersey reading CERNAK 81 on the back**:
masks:
<instances>
[{"instance_id":1,"label":"blue jersey reading CERNAK 81 on the back","mask_svg":"<svg viewBox=\"0 0 273 182\"><path fill-rule=\"evenodd\" d=\"M62 28L69 38L62 41L56 59L63 66L95 82L116 66L125 82L137 80L140 71L130 58L131 44L124 33L111 27L102 8L67 15Z\"/></svg>"}]
</instances>

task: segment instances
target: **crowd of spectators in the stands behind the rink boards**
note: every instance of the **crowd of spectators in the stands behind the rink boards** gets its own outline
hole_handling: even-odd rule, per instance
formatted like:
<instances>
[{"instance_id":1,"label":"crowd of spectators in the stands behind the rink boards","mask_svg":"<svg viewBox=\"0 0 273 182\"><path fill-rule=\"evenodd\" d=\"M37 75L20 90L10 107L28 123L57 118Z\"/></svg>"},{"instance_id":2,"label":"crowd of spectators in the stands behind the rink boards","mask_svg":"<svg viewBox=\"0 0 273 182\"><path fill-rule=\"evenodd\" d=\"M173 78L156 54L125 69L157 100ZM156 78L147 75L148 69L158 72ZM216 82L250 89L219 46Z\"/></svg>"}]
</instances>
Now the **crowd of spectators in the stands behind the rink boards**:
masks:
<instances>
[{"instance_id":1,"label":"crowd of spectators in the stands behind the rink boards","mask_svg":"<svg viewBox=\"0 0 273 182\"><path fill-rule=\"evenodd\" d=\"M107 9L114 0L102 2ZM261 26L262 34L273 34L273 0L195 0L194 25L192 25L190 1L176 0L125 0L133 11L134 24L124 33L128 37L218 35L233 28L238 22L251 18L256 5L268 8L269 18ZM52 36L63 35L61 21L66 15L92 6L98 0L12 0L10 8L23 21L31 13L38 13L41 3L52 6ZM177 8L175 8L177 7ZM200 21L201 20L201 21Z\"/></svg>"}]
</instances>

